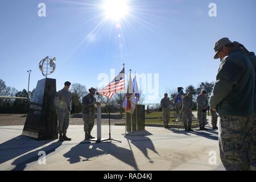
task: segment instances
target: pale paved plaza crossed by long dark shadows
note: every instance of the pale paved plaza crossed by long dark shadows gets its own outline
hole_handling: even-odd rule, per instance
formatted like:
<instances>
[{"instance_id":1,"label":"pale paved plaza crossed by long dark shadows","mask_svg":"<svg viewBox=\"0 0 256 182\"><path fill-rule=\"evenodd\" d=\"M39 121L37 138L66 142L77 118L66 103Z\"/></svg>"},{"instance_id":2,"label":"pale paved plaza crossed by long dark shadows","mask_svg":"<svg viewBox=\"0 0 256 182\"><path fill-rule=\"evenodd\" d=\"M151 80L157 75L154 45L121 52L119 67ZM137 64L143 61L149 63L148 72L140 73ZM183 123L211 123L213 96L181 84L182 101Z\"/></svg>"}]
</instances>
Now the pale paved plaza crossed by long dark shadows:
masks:
<instances>
[{"instance_id":1,"label":"pale paved plaza crossed by long dark shadows","mask_svg":"<svg viewBox=\"0 0 256 182\"><path fill-rule=\"evenodd\" d=\"M87 144L82 142L83 126L71 125L72 141L61 144L24 137L22 129L0 127L0 170L224 170L214 130L186 133L146 127L125 136L123 126L112 126L112 137L122 143ZM102 137L108 137L108 129L102 126ZM40 151L47 154L45 165L38 163Z\"/></svg>"}]
</instances>

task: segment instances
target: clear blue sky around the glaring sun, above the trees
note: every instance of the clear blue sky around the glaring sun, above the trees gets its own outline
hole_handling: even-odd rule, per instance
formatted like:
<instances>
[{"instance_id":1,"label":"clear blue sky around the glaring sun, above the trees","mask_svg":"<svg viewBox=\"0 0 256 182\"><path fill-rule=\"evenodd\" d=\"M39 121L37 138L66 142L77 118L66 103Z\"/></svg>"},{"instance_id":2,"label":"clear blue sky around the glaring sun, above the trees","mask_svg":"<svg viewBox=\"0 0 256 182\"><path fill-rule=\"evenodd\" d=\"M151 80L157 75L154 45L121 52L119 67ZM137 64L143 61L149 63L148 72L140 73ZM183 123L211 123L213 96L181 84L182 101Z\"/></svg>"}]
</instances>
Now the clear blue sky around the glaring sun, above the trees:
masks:
<instances>
[{"instance_id":1,"label":"clear blue sky around the glaring sun, above the trees","mask_svg":"<svg viewBox=\"0 0 256 182\"><path fill-rule=\"evenodd\" d=\"M38 4L46 3L46 17L38 16ZM67 3L79 2L79 3ZM209 3L217 5L217 17L208 15ZM256 51L256 1L244 0L130 0L136 18L126 17L119 49L118 30L111 20L93 29L104 16L93 4L101 0L80 1L0 1L0 78L8 86L27 89L43 76L38 63L45 56L55 56L57 90L67 80L97 86L100 73L110 69L126 73L159 73L159 94L201 81L214 81L219 60L214 60L214 43L222 38L237 40ZM88 34L93 41L85 39ZM89 36L89 38L90 38ZM85 41L82 41L85 40ZM122 51L122 56L120 56ZM148 100L146 102L159 102Z\"/></svg>"}]
</instances>

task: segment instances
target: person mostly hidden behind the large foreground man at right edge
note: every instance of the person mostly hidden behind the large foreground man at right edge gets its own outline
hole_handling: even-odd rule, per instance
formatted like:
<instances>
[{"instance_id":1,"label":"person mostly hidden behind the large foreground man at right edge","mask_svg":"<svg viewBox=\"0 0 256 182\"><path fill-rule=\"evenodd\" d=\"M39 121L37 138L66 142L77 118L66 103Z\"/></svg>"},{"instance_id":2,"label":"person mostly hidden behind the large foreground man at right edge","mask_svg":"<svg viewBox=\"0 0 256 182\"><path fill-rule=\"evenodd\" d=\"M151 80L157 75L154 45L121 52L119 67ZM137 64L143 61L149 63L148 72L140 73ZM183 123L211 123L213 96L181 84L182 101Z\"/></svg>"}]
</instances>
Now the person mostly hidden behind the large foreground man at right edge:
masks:
<instances>
[{"instance_id":1,"label":"person mostly hidden behind the large foreground man at right edge","mask_svg":"<svg viewBox=\"0 0 256 182\"><path fill-rule=\"evenodd\" d=\"M253 64L254 71L256 73L256 56L254 52L249 52L242 44L238 42L233 42L233 44L236 46L236 48L242 48L243 51L246 53L248 56L249 60ZM256 75L255 75L256 76ZM256 171L256 78L254 82L254 117L253 119L253 124L251 125L251 130L253 131L253 138L251 142L251 170Z\"/></svg>"}]
</instances>

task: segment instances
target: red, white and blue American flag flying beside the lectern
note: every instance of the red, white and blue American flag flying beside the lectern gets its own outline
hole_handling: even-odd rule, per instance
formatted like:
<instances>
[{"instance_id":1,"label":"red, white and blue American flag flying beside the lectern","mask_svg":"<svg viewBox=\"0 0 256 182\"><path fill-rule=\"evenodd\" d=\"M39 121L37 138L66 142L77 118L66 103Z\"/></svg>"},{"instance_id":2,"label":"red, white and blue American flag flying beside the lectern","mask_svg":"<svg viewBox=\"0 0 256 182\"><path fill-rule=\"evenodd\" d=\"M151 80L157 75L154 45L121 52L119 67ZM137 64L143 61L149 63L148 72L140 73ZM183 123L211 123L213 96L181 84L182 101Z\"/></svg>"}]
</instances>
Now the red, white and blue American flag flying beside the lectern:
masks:
<instances>
[{"instance_id":1,"label":"red, white and blue American flag flying beside the lectern","mask_svg":"<svg viewBox=\"0 0 256 182\"><path fill-rule=\"evenodd\" d=\"M108 98L111 98L115 92L125 90L125 68L110 82L104 89L100 90L99 93Z\"/></svg>"}]
</instances>

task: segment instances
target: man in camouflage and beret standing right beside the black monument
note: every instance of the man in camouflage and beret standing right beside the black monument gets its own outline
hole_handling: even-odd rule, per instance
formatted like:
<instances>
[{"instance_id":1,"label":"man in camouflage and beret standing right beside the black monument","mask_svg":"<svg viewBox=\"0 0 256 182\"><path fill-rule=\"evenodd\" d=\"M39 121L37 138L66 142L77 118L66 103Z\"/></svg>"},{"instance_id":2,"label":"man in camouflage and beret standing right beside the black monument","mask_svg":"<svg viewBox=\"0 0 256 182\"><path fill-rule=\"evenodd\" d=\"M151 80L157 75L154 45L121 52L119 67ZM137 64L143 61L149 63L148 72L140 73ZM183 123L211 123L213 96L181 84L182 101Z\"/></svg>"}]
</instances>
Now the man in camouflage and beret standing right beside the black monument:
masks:
<instances>
[{"instance_id":1,"label":"man in camouflage and beret standing right beside the black monument","mask_svg":"<svg viewBox=\"0 0 256 182\"><path fill-rule=\"evenodd\" d=\"M57 92L55 96L55 108L58 118L58 131L59 140L63 142L64 140L71 140L68 138L66 133L69 126L69 117L71 112L71 101L72 93L69 92L69 87L71 82L66 81L64 88Z\"/></svg>"}]
</instances>

